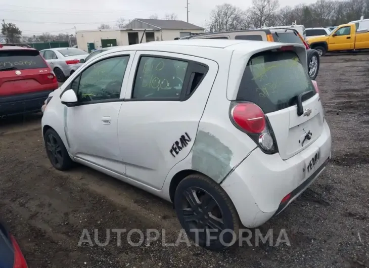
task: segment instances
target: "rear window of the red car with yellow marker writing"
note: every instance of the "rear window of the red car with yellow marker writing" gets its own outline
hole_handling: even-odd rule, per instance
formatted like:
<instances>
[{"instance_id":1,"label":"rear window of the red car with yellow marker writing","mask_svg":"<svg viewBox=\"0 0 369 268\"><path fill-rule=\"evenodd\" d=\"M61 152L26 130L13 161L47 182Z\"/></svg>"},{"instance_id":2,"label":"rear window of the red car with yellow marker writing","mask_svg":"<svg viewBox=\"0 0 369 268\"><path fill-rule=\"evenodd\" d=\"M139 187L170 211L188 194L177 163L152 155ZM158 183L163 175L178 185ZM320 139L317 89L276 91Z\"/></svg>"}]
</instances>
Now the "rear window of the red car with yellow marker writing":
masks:
<instances>
[{"instance_id":1,"label":"rear window of the red car with yellow marker writing","mask_svg":"<svg viewBox=\"0 0 369 268\"><path fill-rule=\"evenodd\" d=\"M0 51L0 71L48 68L35 50Z\"/></svg>"}]
</instances>

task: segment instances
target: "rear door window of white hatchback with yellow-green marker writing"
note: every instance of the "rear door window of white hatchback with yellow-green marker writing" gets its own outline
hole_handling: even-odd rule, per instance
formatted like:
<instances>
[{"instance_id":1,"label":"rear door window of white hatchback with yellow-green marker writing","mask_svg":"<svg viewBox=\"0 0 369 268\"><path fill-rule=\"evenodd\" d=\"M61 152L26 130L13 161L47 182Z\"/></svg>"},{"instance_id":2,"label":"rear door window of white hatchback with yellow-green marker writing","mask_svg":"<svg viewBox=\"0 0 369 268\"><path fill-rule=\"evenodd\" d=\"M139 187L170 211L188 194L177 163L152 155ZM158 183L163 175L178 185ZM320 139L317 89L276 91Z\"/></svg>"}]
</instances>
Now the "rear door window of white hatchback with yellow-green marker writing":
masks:
<instances>
[{"instance_id":1,"label":"rear door window of white hatchback with yellow-green marker writing","mask_svg":"<svg viewBox=\"0 0 369 268\"><path fill-rule=\"evenodd\" d=\"M188 65L187 61L180 59L141 57L131 98L179 100Z\"/></svg>"}]
</instances>

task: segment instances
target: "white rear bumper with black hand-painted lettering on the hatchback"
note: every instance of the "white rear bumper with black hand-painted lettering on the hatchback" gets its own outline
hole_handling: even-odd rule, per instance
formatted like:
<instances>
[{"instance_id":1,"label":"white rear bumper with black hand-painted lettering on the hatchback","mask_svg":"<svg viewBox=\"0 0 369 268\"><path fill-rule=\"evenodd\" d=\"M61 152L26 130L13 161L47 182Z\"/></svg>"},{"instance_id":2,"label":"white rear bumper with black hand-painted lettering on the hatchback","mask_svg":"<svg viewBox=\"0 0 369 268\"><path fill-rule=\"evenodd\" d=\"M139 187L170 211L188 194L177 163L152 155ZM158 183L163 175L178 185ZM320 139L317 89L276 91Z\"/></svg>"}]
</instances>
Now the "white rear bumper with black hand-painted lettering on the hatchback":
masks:
<instances>
[{"instance_id":1,"label":"white rear bumper with black hand-painted lettering on the hatchback","mask_svg":"<svg viewBox=\"0 0 369 268\"><path fill-rule=\"evenodd\" d=\"M331 158L331 146L331 132L325 122L320 137L290 159L283 160L279 154L266 155L260 149L253 151L221 184L242 224L258 227L285 209L325 169ZM310 170L308 159L317 151L319 161ZM282 204L288 194L289 199Z\"/></svg>"}]
</instances>

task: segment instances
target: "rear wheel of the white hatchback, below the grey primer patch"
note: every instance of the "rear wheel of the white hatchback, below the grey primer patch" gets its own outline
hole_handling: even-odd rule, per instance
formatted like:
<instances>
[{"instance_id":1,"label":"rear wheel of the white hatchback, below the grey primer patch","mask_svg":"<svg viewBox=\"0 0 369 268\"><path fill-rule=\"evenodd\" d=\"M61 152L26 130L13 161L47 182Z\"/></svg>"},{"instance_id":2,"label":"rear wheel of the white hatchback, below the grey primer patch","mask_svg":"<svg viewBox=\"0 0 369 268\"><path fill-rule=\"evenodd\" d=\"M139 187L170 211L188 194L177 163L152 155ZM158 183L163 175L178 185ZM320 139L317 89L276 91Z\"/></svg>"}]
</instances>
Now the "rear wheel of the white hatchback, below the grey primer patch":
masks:
<instances>
[{"instance_id":1,"label":"rear wheel of the white hatchback, below the grey primer patch","mask_svg":"<svg viewBox=\"0 0 369 268\"><path fill-rule=\"evenodd\" d=\"M174 207L182 228L199 246L220 251L239 239L240 218L232 200L205 175L191 174L178 184ZM206 229L213 230L210 236L201 231Z\"/></svg>"}]
</instances>

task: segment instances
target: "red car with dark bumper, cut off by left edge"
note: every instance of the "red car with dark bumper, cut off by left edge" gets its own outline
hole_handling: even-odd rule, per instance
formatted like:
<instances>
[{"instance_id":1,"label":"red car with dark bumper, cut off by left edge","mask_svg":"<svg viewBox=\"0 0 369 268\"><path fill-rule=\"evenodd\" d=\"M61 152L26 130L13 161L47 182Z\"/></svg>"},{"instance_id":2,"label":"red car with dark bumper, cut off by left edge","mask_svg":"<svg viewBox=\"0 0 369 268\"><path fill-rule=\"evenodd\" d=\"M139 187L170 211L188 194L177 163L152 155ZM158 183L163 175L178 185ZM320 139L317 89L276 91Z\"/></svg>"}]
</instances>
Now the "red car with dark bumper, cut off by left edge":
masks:
<instances>
[{"instance_id":1,"label":"red car with dark bumper, cut off by left edge","mask_svg":"<svg viewBox=\"0 0 369 268\"><path fill-rule=\"evenodd\" d=\"M41 111L58 87L53 70L37 50L0 44L0 118Z\"/></svg>"}]
</instances>

